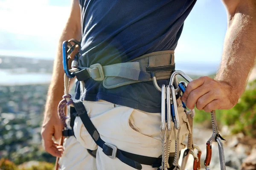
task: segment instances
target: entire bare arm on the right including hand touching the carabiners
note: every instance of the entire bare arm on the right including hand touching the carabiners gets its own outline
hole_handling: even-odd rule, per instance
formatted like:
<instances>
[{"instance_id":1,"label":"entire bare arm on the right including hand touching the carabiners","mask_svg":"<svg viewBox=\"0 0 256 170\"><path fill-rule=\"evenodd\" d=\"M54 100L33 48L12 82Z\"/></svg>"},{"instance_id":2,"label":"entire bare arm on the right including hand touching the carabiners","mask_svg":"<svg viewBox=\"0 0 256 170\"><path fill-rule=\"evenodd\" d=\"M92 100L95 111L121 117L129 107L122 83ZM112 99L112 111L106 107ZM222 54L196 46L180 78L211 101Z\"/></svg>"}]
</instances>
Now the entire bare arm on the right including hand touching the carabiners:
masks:
<instances>
[{"instance_id":1,"label":"entire bare arm on the right including hand touching the carabiners","mask_svg":"<svg viewBox=\"0 0 256 170\"><path fill-rule=\"evenodd\" d=\"M188 84L182 100L190 109L230 109L244 92L256 58L256 1L223 0L228 28L221 67L215 77L200 77Z\"/></svg>"}]
</instances>

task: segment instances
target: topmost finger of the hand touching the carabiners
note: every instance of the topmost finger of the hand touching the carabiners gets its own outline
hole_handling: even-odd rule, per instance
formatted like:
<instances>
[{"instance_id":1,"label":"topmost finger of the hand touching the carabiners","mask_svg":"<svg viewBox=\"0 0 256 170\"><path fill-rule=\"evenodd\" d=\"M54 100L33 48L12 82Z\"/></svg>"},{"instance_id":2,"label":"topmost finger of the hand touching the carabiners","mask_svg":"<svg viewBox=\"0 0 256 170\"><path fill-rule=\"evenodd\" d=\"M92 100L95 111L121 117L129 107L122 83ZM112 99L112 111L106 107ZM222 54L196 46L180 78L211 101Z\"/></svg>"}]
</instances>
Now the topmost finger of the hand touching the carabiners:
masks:
<instances>
[{"instance_id":1,"label":"topmost finger of the hand touching the carabiners","mask_svg":"<svg viewBox=\"0 0 256 170\"><path fill-rule=\"evenodd\" d=\"M200 87L204 84L204 81L210 79L209 77L199 77L198 79L194 79L192 82L189 82L189 84L186 87L186 90L184 94L182 95L182 101L186 103L189 94L195 90L196 88Z\"/></svg>"}]
</instances>

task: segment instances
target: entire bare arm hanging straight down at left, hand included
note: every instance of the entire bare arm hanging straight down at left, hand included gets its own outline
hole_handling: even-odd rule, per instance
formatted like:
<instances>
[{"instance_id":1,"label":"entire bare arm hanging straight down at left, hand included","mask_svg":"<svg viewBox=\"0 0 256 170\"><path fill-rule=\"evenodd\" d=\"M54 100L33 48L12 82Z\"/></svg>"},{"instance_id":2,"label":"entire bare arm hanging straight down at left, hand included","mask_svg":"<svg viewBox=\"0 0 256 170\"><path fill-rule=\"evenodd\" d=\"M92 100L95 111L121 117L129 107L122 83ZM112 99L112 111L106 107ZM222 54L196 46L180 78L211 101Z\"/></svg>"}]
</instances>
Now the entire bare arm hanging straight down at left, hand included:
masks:
<instances>
[{"instance_id":1,"label":"entire bare arm hanging straight down at left, hand included","mask_svg":"<svg viewBox=\"0 0 256 170\"><path fill-rule=\"evenodd\" d=\"M54 61L52 82L49 86L47 102L45 106L44 122L41 131L42 138L44 140L44 147L47 152L53 156L61 156L61 149L57 149L57 144L52 141L52 136L55 139L60 139L62 136L63 125L58 118L58 103L61 101L64 94L64 70L62 65L62 42L75 38L80 40L81 38L81 23L80 23L80 7L79 0L72 1L72 7L70 16L67 20L67 24L62 31L61 37L58 42L57 56ZM74 80L71 80L71 83Z\"/></svg>"}]
</instances>

